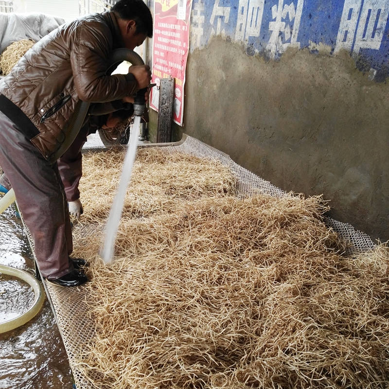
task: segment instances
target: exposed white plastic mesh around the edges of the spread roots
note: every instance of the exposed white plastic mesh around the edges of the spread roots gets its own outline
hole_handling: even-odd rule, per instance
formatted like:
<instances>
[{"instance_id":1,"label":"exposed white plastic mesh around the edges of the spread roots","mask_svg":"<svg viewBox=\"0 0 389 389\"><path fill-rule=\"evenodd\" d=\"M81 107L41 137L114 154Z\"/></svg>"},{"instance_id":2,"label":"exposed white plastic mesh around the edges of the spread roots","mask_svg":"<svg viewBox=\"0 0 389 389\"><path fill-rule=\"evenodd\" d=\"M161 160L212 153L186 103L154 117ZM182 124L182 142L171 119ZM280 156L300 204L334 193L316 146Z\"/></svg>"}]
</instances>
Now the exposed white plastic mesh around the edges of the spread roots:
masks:
<instances>
[{"instance_id":1,"label":"exposed white plastic mesh around the edges of the spread roots","mask_svg":"<svg viewBox=\"0 0 389 389\"><path fill-rule=\"evenodd\" d=\"M163 147L169 152L184 152L197 157L219 159L223 164L229 166L231 170L235 172L236 177L238 178L238 195L250 195L258 192L278 197L289 195L272 185L270 182L265 181L249 172L247 169L239 166L230 159L227 154L185 134L179 142L149 143L142 144L140 147ZM102 151L103 148L97 147L94 148L94 150L99 152ZM358 254L375 247L375 244L368 235L355 230L353 226L349 224L340 223L331 218L327 218L326 223L329 227L336 230L341 237L350 242L351 245L346 251L347 255ZM82 226L81 224L78 224L73 228L81 229L81 231L78 231L81 240L88 239L89 231L96 230L96 226L93 225ZM34 245L32 244L31 239L30 244L34 252ZM77 245L77 242L74 242L74 245ZM88 317L88 306L86 303L86 301L88 301L88 296L83 287L65 288L55 286L48 282L45 282L44 284L48 297L51 300L53 312L69 356L76 387L77 389L96 388L85 379L83 374L75 366L79 350L82 349L83 344L92 339L94 335L91 320Z\"/></svg>"}]
</instances>

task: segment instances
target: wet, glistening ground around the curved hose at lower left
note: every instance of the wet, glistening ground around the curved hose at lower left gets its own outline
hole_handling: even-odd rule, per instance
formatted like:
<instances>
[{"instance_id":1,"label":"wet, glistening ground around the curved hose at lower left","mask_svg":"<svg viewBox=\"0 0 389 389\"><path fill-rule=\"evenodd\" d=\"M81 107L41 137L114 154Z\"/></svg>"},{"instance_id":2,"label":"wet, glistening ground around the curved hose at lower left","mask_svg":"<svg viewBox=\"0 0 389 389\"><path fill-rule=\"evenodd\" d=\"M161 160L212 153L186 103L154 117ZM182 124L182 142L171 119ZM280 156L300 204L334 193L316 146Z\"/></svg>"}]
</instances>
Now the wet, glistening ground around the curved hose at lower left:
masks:
<instances>
[{"instance_id":1,"label":"wet, glistening ground around the curved hose at lower left","mask_svg":"<svg viewBox=\"0 0 389 389\"><path fill-rule=\"evenodd\" d=\"M15 205L0 214L0 264L27 271L34 261ZM24 312L34 293L13 277L0 278L0 321ZM71 389L71 370L49 302L23 326L0 334L0 389Z\"/></svg>"}]
</instances>

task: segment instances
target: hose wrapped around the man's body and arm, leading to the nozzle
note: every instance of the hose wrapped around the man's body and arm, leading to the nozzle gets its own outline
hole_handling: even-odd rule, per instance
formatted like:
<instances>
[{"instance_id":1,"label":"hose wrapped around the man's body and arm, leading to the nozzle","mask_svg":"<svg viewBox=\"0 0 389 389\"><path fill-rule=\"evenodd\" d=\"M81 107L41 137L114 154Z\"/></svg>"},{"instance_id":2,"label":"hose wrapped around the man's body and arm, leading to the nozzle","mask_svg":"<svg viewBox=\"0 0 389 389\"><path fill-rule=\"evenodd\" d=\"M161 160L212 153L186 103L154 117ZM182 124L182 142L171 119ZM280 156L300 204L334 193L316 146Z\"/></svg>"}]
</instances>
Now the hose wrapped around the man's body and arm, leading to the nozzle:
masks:
<instances>
[{"instance_id":1,"label":"hose wrapped around the man's body and arm, leading to the nozzle","mask_svg":"<svg viewBox=\"0 0 389 389\"><path fill-rule=\"evenodd\" d=\"M117 62L128 61L132 65L144 65L141 56L132 50L117 49L112 52L112 56L108 61L108 69ZM144 95L144 92L142 92ZM50 162L54 163L59 157L61 157L66 150L73 143L75 137L80 131L85 117L87 116L90 103L79 100L71 116L70 123L64 127L65 141L61 146L52 154ZM4 212L15 201L15 193L13 189L10 189L6 195L0 199L0 213Z\"/></svg>"}]
</instances>

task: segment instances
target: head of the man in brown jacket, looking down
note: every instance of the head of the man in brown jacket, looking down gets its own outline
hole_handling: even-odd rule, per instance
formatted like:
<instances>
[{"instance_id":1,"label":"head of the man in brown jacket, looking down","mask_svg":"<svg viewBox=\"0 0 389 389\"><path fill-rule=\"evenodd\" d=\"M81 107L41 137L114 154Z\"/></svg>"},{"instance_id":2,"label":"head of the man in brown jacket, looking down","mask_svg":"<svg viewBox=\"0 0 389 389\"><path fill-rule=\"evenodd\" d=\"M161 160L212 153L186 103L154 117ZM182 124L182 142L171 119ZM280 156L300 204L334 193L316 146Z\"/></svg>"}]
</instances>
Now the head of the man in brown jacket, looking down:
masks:
<instances>
[{"instance_id":1,"label":"head of the man in brown jacket, looking down","mask_svg":"<svg viewBox=\"0 0 389 389\"><path fill-rule=\"evenodd\" d=\"M144 39L153 36L153 18L143 0L119 0L112 8L118 18L118 24L124 45L134 50Z\"/></svg>"}]
</instances>

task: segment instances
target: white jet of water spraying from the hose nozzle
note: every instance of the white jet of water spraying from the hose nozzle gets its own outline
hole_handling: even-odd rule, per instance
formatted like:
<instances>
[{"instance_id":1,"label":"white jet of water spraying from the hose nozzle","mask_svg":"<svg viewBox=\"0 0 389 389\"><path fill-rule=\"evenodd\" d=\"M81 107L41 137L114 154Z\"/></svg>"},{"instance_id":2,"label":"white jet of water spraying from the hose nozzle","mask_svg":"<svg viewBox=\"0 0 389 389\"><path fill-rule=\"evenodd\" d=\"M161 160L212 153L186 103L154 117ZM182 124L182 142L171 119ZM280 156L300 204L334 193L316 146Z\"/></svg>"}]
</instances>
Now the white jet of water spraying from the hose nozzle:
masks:
<instances>
[{"instance_id":1,"label":"white jet of water spraying from the hose nozzle","mask_svg":"<svg viewBox=\"0 0 389 389\"><path fill-rule=\"evenodd\" d=\"M106 222L105 244L100 253L100 256L103 258L105 264L109 264L112 260L116 233L118 231L119 222L123 211L124 196L131 179L132 167L134 165L135 156L137 153L140 124L141 117L135 116L124 158L122 177L120 178L118 192L116 193L116 196L113 200L112 208L109 212L108 220Z\"/></svg>"}]
</instances>

